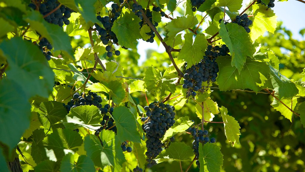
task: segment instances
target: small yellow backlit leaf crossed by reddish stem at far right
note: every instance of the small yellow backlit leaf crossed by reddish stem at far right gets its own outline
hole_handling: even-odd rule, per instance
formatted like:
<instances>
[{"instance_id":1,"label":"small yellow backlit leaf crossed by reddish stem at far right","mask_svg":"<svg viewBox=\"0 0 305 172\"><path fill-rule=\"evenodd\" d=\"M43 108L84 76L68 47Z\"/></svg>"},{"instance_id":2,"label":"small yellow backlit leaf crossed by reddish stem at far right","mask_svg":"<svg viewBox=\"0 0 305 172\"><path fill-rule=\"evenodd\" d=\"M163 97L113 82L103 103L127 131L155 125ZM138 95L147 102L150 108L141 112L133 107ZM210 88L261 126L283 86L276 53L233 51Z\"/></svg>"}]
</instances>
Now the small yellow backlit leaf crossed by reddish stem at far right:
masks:
<instances>
[{"instance_id":1,"label":"small yellow backlit leaf crossed by reddish stem at far right","mask_svg":"<svg viewBox=\"0 0 305 172\"><path fill-rule=\"evenodd\" d=\"M287 105L289 108L291 108L292 110L294 109L294 107L296 107L296 103L298 103L297 101L297 97L293 97L293 98L286 98L286 99L281 99L281 101ZM271 106L274 107L275 110L281 112L281 114L290 120L290 122L292 122L292 111L290 111L287 107L285 107L285 105L283 105L282 103L280 103L277 99L273 99L273 102L271 103Z\"/></svg>"}]
</instances>

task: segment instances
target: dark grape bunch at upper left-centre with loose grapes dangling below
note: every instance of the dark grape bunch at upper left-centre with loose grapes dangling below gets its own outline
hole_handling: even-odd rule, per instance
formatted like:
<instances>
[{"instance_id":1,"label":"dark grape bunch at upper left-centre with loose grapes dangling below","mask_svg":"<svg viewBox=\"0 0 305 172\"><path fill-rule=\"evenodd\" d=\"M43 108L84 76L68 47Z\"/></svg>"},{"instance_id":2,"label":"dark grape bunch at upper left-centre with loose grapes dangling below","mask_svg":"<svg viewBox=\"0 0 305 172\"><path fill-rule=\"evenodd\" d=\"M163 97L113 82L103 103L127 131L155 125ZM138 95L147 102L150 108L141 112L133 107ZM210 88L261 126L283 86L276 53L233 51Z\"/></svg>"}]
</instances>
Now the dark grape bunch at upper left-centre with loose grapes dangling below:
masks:
<instances>
[{"instance_id":1,"label":"dark grape bunch at upper left-centre with loose grapes dangling below","mask_svg":"<svg viewBox=\"0 0 305 172\"><path fill-rule=\"evenodd\" d=\"M115 50L113 48L113 44L118 44L118 39L116 34L111 30L113 26L113 22L117 20L118 17L121 15L122 7L120 7L118 4L113 3L111 5L111 10L109 11L109 16L101 17L97 16L96 18L102 23L104 28L101 28L98 24L95 24L95 28L98 31L99 35L101 36L100 39L102 43L106 46L107 57L112 57L113 54L119 56L120 51ZM122 47L124 49L127 49L126 47ZM113 53L114 52L114 53Z\"/></svg>"}]
</instances>

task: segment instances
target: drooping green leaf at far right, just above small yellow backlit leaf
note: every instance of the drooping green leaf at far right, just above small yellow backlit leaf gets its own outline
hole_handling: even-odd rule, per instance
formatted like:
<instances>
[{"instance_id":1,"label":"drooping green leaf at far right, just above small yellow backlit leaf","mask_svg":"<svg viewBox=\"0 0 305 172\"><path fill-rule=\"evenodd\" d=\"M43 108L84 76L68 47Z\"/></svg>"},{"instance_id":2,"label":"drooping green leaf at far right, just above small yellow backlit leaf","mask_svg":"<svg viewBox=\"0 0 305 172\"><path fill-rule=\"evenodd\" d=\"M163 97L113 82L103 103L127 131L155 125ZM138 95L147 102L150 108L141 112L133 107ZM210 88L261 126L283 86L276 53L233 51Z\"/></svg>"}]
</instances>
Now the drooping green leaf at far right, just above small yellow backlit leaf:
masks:
<instances>
[{"instance_id":1,"label":"drooping green leaf at far right, just above small yellow backlit leaf","mask_svg":"<svg viewBox=\"0 0 305 172\"><path fill-rule=\"evenodd\" d=\"M269 66L269 68L269 77L263 88L273 89L276 93L278 93L279 99L293 97L299 93L299 90L294 82L290 81L272 66Z\"/></svg>"}]
</instances>

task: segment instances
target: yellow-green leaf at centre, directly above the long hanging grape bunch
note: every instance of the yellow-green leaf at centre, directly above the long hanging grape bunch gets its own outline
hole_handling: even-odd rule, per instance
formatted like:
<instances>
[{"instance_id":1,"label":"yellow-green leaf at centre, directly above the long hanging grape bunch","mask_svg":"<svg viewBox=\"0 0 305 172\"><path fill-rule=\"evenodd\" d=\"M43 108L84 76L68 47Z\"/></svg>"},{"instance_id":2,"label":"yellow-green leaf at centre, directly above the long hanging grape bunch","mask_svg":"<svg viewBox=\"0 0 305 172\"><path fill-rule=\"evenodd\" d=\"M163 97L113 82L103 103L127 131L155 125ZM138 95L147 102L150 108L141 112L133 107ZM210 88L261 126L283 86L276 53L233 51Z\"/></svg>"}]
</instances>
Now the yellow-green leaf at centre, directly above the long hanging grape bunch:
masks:
<instances>
[{"instance_id":1,"label":"yellow-green leaf at centre, directly above the long hanging grape bunch","mask_svg":"<svg viewBox=\"0 0 305 172\"><path fill-rule=\"evenodd\" d=\"M149 92L156 93L157 100L160 100L165 93L165 90L174 93L176 91L176 82L178 78L166 79L162 73L153 66L148 67L144 72L146 89Z\"/></svg>"}]
</instances>

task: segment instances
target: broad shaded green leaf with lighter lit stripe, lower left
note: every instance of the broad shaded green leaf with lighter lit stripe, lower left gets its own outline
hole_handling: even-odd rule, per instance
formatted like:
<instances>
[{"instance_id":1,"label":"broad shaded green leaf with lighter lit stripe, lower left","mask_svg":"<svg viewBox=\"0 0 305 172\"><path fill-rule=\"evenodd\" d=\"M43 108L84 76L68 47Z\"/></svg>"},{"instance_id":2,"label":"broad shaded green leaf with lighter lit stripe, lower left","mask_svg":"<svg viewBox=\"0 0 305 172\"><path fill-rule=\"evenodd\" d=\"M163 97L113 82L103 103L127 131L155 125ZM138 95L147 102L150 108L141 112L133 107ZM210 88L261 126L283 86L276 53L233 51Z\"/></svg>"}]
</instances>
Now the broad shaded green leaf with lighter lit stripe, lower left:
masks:
<instances>
[{"instance_id":1,"label":"broad shaded green leaf with lighter lit stripe, lower left","mask_svg":"<svg viewBox=\"0 0 305 172\"><path fill-rule=\"evenodd\" d=\"M44 139L45 147L52 149L57 159L62 159L65 152L75 153L83 141L81 135L71 129L53 129L53 133Z\"/></svg>"}]
</instances>

